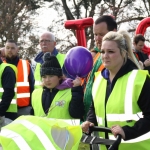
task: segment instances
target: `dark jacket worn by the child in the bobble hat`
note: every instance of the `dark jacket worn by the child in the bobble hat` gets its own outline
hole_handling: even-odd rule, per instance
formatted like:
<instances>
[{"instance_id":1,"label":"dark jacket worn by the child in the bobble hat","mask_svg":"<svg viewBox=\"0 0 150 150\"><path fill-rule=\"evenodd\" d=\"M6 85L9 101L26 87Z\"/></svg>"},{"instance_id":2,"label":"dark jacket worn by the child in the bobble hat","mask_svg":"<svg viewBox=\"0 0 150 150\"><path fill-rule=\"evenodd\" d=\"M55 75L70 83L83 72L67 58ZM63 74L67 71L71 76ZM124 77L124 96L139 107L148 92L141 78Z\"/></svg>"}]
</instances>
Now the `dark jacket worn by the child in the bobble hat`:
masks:
<instances>
[{"instance_id":1,"label":"dark jacket worn by the child in the bobble hat","mask_svg":"<svg viewBox=\"0 0 150 150\"><path fill-rule=\"evenodd\" d=\"M50 91L50 89L44 87L42 93L42 106L46 114L48 113L49 107L58 91L59 90L55 88ZM72 98L68 110L70 116L76 119L83 120L83 115L84 115L83 89L81 86L73 87L71 89L71 93L72 93ZM34 115L33 108L31 109L30 114Z\"/></svg>"}]
</instances>

